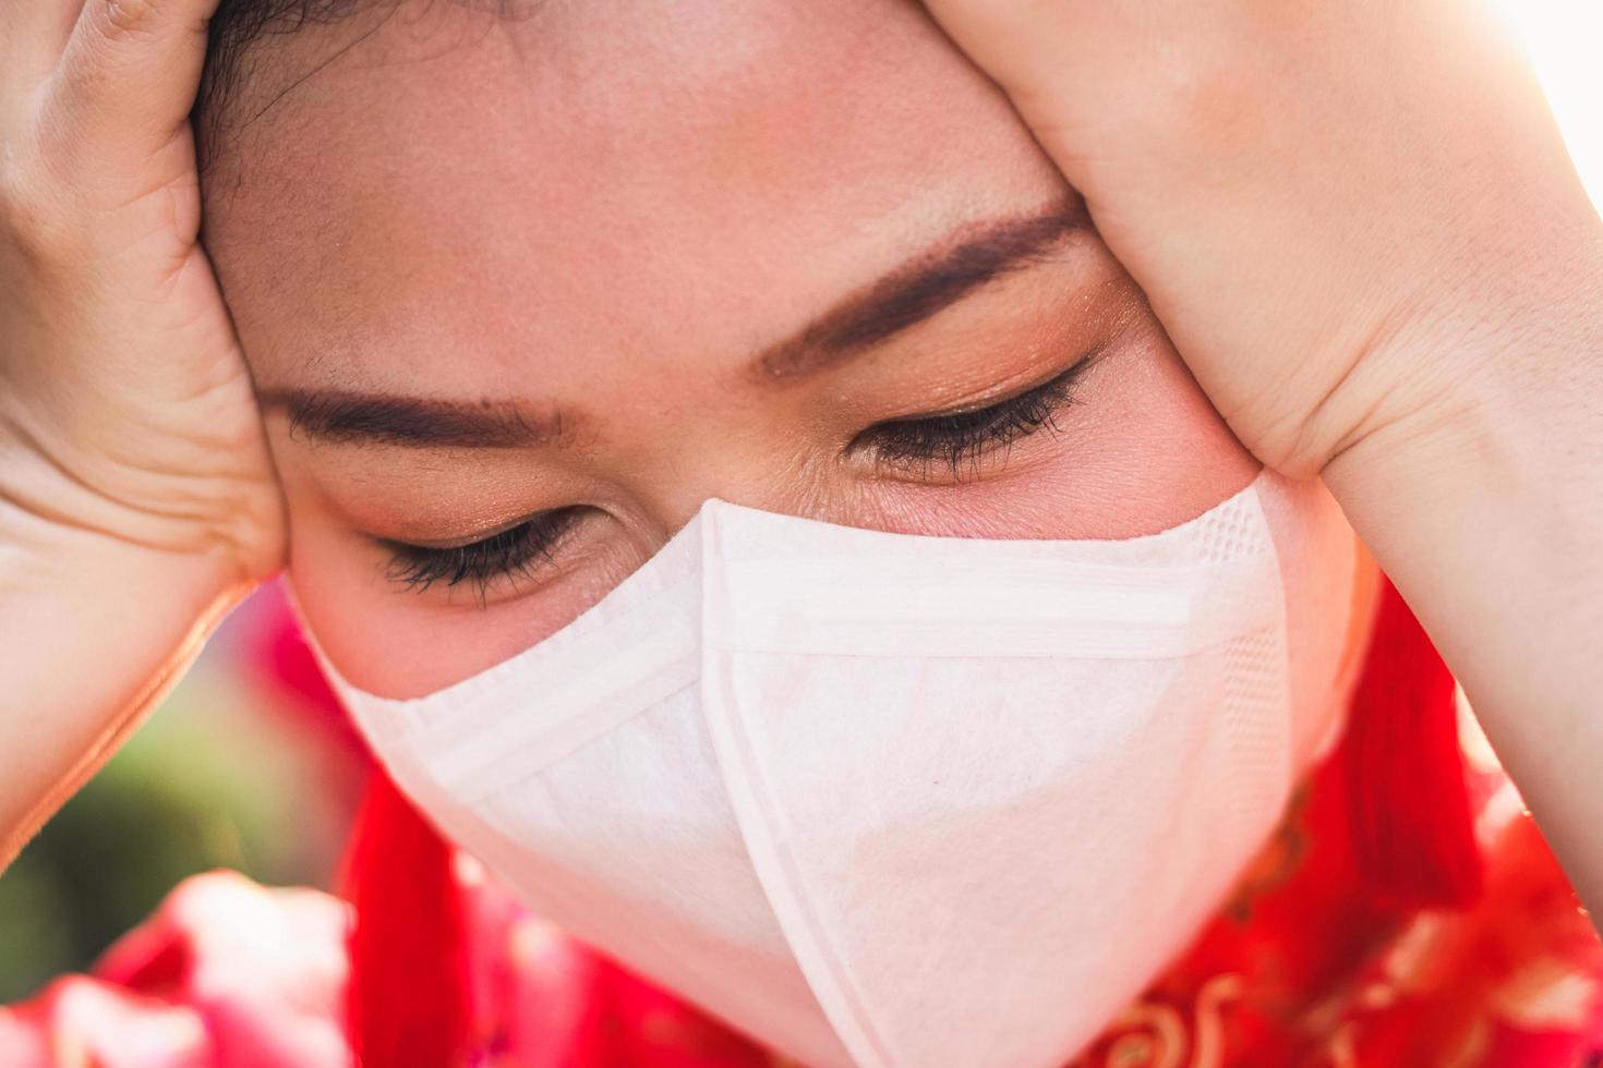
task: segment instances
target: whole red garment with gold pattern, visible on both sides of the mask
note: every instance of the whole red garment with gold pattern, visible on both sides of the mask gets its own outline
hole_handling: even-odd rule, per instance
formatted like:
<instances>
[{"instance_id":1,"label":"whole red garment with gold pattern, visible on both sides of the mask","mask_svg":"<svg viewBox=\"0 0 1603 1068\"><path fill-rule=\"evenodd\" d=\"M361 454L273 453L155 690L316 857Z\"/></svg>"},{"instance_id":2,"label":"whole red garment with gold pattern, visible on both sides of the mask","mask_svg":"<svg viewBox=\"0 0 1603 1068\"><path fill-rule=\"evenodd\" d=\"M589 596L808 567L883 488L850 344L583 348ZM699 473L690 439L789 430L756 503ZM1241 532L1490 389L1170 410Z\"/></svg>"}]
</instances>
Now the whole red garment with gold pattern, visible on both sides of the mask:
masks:
<instances>
[{"instance_id":1,"label":"whole red garment with gold pattern, visible on both sides of the mask","mask_svg":"<svg viewBox=\"0 0 1603 1068\"><path fill-rule=\"evenodd\" d=\"M1603 943L1502 773L1473 777L1480 903L1401 914L1358 885L1340 764L1310 780L1213 924L1076 1068L1603 1063ZM486 1065L782 1063L531 916L471 860L457 871ZM0 1063L345 1065L346 917L313 890L191 879L93 978L0 1010Z\"/></svg>"}]
</instances>

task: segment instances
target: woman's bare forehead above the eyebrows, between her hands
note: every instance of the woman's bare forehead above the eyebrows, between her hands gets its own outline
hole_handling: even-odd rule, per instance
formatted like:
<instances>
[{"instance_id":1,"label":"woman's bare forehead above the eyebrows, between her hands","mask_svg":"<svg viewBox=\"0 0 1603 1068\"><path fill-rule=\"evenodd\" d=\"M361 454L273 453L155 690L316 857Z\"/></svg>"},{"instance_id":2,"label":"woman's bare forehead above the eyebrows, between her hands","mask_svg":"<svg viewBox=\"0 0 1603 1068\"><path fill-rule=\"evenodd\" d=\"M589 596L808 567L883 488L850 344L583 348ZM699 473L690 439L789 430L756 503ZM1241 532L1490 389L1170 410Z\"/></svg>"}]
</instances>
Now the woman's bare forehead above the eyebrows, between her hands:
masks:
<instances>
[{"instance_id":1,"label":"woman's bare forehead above the eyebrows, between her hands","mask_svg":"<svg viewBox=\"0 0 1603 1068\"><path fill-rule=\"evenodd\" d=\"M902 0L385 6L247 70L207 242L274 384L737 359L1061 197Z\"/></svg>"}]
</instances>

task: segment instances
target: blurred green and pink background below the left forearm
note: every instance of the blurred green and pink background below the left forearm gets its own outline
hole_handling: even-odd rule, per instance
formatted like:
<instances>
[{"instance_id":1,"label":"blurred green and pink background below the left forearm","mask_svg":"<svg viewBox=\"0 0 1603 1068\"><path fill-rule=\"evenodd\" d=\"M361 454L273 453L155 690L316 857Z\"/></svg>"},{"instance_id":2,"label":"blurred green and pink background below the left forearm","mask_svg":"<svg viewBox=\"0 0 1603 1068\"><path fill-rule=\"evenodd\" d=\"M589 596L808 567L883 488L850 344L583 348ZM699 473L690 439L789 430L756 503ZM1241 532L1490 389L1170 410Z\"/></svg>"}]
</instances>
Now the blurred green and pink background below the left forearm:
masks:
<instances>
[{"instance_id":1,"label":"blurred green and pink background below the left forearm","mask_svg":"<svg viewBox=\"0 0 1603 1068\"><path fill-rule=\"evenodd\" d=\"M361 762L343 721L305 692L306 669L277 589L229 618L0 874L0 1004L88 967L184 876L332 884Z\"/></svg>"}]
</instances>

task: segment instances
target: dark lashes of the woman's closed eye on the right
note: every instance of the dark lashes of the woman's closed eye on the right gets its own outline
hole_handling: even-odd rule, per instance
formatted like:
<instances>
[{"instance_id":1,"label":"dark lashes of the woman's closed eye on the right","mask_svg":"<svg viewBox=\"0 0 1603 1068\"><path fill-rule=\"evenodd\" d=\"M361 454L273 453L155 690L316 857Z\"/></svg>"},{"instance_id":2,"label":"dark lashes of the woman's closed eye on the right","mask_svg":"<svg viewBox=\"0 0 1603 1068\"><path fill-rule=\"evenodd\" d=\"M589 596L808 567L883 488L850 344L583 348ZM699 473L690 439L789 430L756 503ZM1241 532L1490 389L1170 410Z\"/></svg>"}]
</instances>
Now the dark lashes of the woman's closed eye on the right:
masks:
<instances>
[{"instance_id":1,"label":"dark lashes of the woman's closed eye on the right","mask_svg":"<svg viewBox=\"0 0 1603 1068\"><path fill-rule=\"evenodd\" d=\"M984 456L1005 453L1042 429L1058 432L1056 416L1074 402L1076 379L1087 363L1080 360L1056 378L984 408L870 426L853 447L872 448L880 463L917 468L923 476L935 464L954 479L975 474Z\"/></svg>"}]
</instances>

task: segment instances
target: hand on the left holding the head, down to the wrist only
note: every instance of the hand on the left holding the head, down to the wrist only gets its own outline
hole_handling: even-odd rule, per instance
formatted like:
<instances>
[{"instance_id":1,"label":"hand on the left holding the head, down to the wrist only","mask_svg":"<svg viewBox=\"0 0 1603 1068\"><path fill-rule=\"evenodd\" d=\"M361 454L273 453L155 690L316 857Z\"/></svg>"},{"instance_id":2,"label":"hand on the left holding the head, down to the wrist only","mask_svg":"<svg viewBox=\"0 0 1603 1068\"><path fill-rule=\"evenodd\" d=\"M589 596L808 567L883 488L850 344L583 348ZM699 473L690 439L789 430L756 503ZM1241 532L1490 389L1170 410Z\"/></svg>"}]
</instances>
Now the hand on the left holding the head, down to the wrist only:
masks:
<instances>
[{"instance_id":1,"label":"hand on the left holding the head, down to the wrist only","mask_svg":"<svg viewBox=\"0 0 1603 1068\"><path fill-rule=\"evenodd\" d=\"M215 0L0 6L0 535L279 565L279 492L197 243Z\"/></svg>"}]
</instances>

